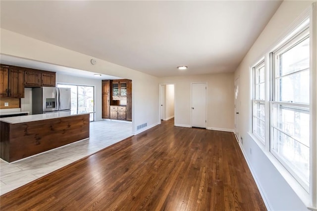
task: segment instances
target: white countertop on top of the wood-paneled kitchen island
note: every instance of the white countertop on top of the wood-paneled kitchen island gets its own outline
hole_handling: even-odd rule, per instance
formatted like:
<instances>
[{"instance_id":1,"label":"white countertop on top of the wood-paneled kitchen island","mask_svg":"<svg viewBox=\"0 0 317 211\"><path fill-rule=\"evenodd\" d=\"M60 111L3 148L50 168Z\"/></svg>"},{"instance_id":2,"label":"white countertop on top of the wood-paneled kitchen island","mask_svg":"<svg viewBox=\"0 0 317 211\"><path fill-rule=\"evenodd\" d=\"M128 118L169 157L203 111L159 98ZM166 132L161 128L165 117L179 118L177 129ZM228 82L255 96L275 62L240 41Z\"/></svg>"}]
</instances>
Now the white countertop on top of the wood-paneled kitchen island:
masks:
<instances>
[{"instance_id":1,"label":"white countertop on top of the wood-paneled kitchen island","mask_svg":"<svg viewBox=\"0 0 317 211\"><path fill-rule=\"evenodd\" d=\"M61 118L66 116L76 116L76 115L82 115L82 114L88 114L88 113L94 113L94 112L58 111L58 112L34 114L34 115L27 115L27 116L4 117L4 118L0 118L0 121L10 123L10 124L17 124L17 123L23 123L23 122L33 122L33 121L40 121L45 119Z\"/></svg>"}]
</instances>

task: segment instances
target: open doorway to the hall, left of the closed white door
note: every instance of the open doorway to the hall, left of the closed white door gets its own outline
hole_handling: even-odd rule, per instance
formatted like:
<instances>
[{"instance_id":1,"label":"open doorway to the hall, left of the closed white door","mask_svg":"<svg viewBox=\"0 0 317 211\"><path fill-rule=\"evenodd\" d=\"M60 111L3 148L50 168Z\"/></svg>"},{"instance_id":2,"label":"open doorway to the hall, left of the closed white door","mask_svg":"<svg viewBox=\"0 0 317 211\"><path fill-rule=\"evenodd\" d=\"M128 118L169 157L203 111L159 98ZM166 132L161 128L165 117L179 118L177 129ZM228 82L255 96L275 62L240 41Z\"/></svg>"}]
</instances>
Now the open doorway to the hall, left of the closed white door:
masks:
<instances>
[{"instance_id":1,"label":"open doorway to the hall, left of the closed white door","mask_svg":"<svg viewBox=\"0 0 317 211\"><path fill-rule=\"evenodd\" d=\"M159 85L159 119L168 120L174 117L175 112L175 85Z\"/></svg>"}]
</instances>

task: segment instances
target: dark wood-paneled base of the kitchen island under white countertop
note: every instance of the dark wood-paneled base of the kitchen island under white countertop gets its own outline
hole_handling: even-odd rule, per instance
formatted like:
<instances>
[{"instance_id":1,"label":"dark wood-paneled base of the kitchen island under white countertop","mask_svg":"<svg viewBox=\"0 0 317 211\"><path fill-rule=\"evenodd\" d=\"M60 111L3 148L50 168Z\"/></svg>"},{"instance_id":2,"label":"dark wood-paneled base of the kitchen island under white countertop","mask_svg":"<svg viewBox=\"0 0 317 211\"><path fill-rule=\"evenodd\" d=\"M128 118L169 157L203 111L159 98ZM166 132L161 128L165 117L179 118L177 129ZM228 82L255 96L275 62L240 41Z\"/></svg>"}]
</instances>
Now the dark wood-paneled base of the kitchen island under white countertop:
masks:
<instances>
[{"instance_id":1,"label":"dark wood-paneled base of the kitchen island under white countertop","mask_svg":"<svg viewBox=\"0 0 317 211\"><path fill-rule=\"evenodd\" d=\"M48 117L30 120L30 116L41 119L39 115ZM21 121L10 121L16 117L0 119L0 158L3 160L12 162L89 138L89 113L74 115L64 111L30 116Z\"/></svg>"}]
</instances>

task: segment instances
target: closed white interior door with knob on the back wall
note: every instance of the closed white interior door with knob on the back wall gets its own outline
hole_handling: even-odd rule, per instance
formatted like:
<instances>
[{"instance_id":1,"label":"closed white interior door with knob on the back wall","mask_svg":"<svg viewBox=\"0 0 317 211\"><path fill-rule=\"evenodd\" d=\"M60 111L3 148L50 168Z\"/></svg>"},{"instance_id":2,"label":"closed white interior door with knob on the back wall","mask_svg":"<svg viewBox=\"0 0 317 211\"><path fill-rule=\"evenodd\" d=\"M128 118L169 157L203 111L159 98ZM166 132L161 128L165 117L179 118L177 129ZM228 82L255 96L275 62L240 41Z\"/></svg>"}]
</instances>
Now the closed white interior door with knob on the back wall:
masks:
<instances>
[{"instance_id":1,"label":"closed white interior door with knob on the back wall","mask_svg":"<svg viewBox=\"0 0 317 211\"><path fill-rule=\"evenodd\" d=\"M192 84L192 127L206 128L207 123L207 84Z\"/></svg>"}]
</instances>

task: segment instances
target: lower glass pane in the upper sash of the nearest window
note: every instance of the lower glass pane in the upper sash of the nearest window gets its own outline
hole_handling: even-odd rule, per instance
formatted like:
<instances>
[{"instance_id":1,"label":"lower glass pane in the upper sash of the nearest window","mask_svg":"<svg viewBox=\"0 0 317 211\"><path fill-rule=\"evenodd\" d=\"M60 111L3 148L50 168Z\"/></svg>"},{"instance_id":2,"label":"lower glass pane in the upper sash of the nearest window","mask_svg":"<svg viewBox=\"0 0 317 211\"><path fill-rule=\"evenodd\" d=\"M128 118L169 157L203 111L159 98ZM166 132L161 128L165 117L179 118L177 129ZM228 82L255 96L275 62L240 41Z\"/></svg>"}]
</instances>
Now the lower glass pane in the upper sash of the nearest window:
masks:
<instances>
[{"instance_id":1,"label":"lower glass pane in the upper sash of the nearest window","mask_svg":"<svg viewBox=\"0 0 317 211\"><path fill-rule=\"evenodd\" d=\"M309 70L277 79L278 101L309 104Z\"/></svg>"}]
</instances>

